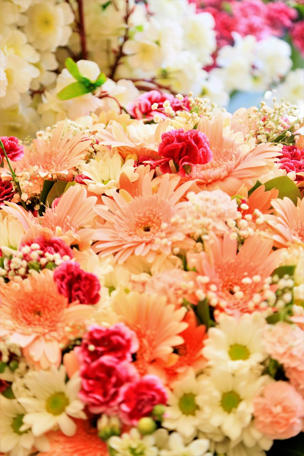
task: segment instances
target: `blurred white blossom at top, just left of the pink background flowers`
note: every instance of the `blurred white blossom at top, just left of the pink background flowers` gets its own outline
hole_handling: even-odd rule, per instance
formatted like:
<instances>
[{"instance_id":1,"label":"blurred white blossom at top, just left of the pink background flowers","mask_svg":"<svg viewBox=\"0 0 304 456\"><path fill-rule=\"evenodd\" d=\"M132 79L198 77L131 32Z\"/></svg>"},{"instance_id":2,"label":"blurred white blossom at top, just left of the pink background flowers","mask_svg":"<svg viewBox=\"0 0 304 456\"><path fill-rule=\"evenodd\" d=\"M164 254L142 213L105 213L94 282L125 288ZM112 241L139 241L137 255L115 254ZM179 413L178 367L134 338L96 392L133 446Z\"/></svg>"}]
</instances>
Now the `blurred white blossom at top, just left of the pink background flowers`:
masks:
<instances>
[{"instance_id":1,"label":"blurred white blossom at top, just left of the pink background flowers","mask_svg":"<svg viewBox=\"0 0 304 456\"><path fill-rule=\"evenodd\" d=\"M202 67L211 65L211 54L216 50L215 21L210 13L192 14L185 17L185 46L193 52Z\"/></svg>"}]
</instances>

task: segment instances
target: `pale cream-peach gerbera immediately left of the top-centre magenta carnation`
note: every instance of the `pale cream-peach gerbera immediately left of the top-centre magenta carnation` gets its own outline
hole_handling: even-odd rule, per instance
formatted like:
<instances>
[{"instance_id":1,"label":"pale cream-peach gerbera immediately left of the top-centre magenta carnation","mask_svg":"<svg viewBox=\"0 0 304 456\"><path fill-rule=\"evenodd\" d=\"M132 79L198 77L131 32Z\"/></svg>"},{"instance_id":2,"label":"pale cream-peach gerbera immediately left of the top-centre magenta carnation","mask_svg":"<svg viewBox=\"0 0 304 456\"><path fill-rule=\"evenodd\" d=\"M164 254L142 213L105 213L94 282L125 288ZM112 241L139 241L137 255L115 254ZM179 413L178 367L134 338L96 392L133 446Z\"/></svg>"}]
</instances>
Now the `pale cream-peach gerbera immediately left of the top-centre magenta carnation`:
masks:
<instances>
[{"instance_id":1,"label":"pale cream-peach gerbera immediately left of the top-centre magenta carnation","mask_svg":"<svg viewBox=\"0 0 304 456\"><path fill-rule=\"evenodd\" d=\"M96 137L103 145L117 147L119 154L126 158L129 154L145 155L151 158L158 157L157 149L161 141L161 135L168 125L164 122L159 124L144 124L134 120L125 129L115 120L107 128L98 131Z\"/></svg>"}]
</instances>

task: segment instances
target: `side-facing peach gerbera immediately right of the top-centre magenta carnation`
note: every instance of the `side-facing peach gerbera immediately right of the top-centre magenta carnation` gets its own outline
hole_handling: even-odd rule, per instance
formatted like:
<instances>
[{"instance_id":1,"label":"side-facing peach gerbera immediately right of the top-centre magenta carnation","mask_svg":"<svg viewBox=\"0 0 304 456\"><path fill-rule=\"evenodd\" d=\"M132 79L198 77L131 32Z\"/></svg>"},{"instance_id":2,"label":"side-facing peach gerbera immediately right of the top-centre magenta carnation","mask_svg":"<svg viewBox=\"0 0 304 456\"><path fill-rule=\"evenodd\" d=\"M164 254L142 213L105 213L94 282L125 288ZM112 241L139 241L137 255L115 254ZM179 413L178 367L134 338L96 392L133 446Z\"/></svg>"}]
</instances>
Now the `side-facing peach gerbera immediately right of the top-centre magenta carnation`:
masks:
<instances>
[{"instance_id":1,"label":"side-facing peach gerbera immediately right of the top-centre magenta carnation","mask_svg":"<svg viewBox=\"0 0 304 456\"><path fill-rule=\"evenodd\" d=\"M213 160L204 165L192 166L189 177L201 190L219 188L232 196L245 185L251 188L259 176L268 173L280 155L280 149L272 144L259 144L252 150L237 145L223 135L222 120L200 123L198 129L210 141Z\"/></svg>"}]
</instances>

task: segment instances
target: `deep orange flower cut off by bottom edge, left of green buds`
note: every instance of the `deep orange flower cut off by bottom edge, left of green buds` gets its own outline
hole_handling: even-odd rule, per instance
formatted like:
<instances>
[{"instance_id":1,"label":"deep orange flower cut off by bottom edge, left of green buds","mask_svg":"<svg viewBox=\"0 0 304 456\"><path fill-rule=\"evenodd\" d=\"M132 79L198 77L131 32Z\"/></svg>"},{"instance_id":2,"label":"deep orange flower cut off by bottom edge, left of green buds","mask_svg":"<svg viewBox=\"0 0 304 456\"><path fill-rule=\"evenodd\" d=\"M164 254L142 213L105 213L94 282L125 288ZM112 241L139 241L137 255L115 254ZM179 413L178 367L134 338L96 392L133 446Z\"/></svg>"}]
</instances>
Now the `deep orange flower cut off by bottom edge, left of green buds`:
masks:
<instances>
[{"instance_id":1,"label":"deep orange flower cut off by bottom edge, left of green buds","mask_svg":"<svg viewBox=\"0 0 304 456\"><path fill-rule=\"evenodd\" d=\"M93 428L88 420L75 420L77 432L67 437L61 430L49 432L51 448L37 456L108 456L107 445L98 437L97 428Z\"/></svg>"}]
</instances>

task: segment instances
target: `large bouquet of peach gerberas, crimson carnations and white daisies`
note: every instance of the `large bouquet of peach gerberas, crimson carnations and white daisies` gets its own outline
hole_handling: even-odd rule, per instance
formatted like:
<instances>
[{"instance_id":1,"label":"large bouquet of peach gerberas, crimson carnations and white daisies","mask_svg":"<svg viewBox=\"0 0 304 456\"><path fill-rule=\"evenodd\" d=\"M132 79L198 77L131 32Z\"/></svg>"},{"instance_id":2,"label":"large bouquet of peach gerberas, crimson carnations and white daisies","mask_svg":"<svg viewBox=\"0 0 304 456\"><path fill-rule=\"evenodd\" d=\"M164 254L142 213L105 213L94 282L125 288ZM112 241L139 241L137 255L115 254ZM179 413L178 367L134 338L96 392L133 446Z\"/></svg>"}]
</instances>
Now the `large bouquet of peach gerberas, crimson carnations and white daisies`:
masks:
<instances>
[{"instance_id":1,"label":"large bouquet of peach gerberas, crimson carnations and white daisies","mask_svg":"<svg viewBox=\"0 0 304 456\"><path fill-rule=\"evenodd\" d=\"M64 73L71 106L106 84ZM299 109L152 90L127 111L1 137L1 454L296 451Z\"/></svg>"}]
</instances>

